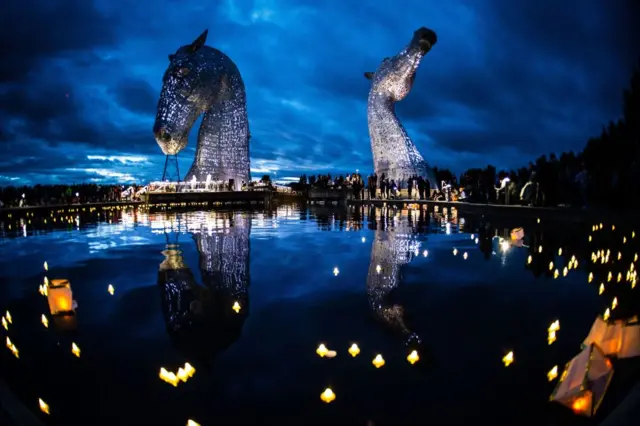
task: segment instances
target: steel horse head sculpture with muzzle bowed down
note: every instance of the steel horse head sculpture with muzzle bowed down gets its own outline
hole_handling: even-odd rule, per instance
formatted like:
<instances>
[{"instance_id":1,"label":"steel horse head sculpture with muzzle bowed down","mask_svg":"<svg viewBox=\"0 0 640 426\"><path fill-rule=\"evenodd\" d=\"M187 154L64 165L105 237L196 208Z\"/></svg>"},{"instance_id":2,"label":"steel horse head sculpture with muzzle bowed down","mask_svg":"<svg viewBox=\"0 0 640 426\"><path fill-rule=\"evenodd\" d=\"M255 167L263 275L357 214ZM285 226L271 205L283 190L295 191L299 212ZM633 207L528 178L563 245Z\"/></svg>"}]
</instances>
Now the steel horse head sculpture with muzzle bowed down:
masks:
<instances>
[{"instance_id":1,"label":"steel horse head sculpture with muzzle bowed down","mask_svg":"<svg viewBox=\"0 0 640 426\"><path fill-rule=\"evenodd\" d=\"M162 152L175 156L187 145L204 113L196 157L185 180L249 181L249 119L240 71L224 53L205 46L207 31L169 55L153 133ZM167 157L169 158L169 157Z\"/></svg>"}]
</instances>

